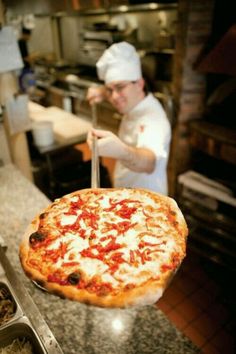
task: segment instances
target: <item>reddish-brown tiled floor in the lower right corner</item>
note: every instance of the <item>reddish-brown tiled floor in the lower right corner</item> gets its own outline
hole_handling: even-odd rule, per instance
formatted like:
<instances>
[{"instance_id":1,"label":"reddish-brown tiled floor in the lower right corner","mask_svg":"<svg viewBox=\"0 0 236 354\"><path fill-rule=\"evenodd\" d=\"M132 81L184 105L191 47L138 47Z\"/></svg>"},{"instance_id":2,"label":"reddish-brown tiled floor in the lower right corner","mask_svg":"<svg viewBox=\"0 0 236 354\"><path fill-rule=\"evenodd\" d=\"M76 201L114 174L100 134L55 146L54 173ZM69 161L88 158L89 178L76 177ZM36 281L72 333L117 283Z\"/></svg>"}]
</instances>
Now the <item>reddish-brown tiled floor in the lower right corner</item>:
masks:
<instances>
[{"instance_id":1,"label":"reddish-brown tiled floor in the lower right corner","mask_svg":"<svg viewBox=\"0 0 236 354\"><path fill-rule=\"evenodd\" d=\"M228 277L231 282L227 282L221 275L218 279L218 271L215 265L189 251L157 306L201 353L233 354L235 296L226 287L234 281Z\"/></svg>"}]
</instances>

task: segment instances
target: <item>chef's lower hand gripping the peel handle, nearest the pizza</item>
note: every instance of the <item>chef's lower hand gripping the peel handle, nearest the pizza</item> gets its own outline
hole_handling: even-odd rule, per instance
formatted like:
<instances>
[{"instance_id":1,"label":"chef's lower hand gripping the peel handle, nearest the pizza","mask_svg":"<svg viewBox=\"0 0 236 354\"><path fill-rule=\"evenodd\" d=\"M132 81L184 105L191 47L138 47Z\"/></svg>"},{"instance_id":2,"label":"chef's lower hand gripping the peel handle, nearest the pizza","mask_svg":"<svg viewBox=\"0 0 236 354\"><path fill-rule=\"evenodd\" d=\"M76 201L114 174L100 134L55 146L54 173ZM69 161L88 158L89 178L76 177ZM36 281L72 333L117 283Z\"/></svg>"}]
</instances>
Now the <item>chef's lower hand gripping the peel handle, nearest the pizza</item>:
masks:
<instances>
[{"instance_id":1,"label":"chef's lower hand gripping the peel handle, nearest the pizza","mask_svg":"<svg viewBox=\"0 0 236 354\"><path fill-rule=\"evenodd\" d=\"M99 156L124 159L127 156L128 146L115 134L108 130L92 129L87 136L87 143L91 149L93 136L98 138L97 149Z\"/></svg>"}]
</instances>

